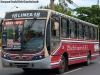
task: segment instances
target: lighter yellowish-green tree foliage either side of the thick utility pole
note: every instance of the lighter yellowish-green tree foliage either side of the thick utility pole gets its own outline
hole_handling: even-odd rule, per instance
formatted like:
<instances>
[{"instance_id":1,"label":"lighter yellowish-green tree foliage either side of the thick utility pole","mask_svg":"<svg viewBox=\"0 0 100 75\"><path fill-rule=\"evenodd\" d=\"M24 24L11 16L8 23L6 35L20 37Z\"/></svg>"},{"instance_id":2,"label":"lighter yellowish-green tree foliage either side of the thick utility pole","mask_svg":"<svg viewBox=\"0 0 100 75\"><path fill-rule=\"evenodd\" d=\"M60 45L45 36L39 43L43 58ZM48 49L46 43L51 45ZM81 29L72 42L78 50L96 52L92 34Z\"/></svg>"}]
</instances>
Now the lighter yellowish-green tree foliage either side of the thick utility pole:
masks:
<instances>
[{"instance_id":1,"label":"lighter yellowish-green tree foliage either side of the thick utility pole","mask_svg":"<svg viewBox=\"0 0 100 75\"><path fill-rule=\"evenodd\" d=\"M50 4L47 5L47 6L40 6L39 9L50 9ZM54 10L57 11L57 12L63 13L65 15L72 16L72 13L71 13L72 11L68 11L67 8L60 6L59 4L54 5Z\"/></svg>"}]
</instances>

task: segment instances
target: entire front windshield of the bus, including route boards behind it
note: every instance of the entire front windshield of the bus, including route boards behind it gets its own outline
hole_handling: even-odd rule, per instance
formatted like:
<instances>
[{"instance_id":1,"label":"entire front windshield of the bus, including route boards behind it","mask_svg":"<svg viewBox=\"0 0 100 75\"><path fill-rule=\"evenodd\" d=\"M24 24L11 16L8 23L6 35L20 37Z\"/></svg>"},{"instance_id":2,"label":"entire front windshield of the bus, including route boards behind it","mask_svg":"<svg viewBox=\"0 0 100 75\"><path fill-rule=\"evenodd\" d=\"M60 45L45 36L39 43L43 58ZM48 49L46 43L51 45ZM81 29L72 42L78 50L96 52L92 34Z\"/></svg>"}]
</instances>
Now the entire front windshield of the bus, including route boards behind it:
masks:
<instances>
[{"instance_id":1,"label":"entire front windshield of the bus, including route boards behind it","mask_svg":"<svg viewBox=\"0 0 100 75\"><path fill-rule=\"evenodd\" d=\"M34 52L42 50L46 20L24 20L23 24L4 23L4 50ZM21 22L20 22L21 23ZM10 24L10 25L6 25ZM4 36L5 35L5 36Z\"/></svg>"}]
</instances>

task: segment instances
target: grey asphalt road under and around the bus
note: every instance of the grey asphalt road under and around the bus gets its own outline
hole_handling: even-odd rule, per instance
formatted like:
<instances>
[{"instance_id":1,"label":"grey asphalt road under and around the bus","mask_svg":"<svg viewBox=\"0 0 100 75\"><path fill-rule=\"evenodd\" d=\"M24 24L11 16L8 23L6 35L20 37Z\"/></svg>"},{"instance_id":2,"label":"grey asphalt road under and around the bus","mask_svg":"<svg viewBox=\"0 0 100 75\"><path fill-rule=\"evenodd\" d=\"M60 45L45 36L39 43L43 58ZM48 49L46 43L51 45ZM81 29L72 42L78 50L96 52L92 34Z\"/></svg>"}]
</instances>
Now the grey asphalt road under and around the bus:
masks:
<instances>
[{"instance_id":1,"label":"grey asphalt road under and around the bus","mask_svg":"<svg viewBox=\"0 0 100 75\"><path fill-rule=\"evenodd\" d=\"M2 68L0 62L0 75L57 75L54 71L42 70L30 73L24 73L21 69ZM100 56L95 60L91 61L90 66L82 64L76 64L69 66L69 71L61 75L100 75Z\"/></svg>"}]
</instances>

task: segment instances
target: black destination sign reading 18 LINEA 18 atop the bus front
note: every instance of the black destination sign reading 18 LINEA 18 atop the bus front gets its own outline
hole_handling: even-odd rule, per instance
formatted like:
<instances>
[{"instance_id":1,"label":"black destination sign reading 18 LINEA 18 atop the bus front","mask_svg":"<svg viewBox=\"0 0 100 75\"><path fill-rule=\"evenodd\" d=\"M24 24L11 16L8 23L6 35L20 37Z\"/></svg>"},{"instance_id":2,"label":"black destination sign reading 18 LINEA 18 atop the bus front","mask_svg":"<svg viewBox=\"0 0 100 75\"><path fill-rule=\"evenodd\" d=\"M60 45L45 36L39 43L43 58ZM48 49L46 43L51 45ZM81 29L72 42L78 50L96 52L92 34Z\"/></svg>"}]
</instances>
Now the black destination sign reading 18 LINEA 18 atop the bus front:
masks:
<instances>
[{"instance_id":1,"label":"black destination sign reading 18 LINEA 18 atop the bus front","mask_svg":"<svg viewBox=\"0 0 100 75\"><path fill-rule=\"evenodd\" d=\"M27 10L27 11L16 11L9 12L6 14L5 19L15 19L15 18L41 18L47 17L47 11L43 10Z\"/></svg>"}]
</instances>

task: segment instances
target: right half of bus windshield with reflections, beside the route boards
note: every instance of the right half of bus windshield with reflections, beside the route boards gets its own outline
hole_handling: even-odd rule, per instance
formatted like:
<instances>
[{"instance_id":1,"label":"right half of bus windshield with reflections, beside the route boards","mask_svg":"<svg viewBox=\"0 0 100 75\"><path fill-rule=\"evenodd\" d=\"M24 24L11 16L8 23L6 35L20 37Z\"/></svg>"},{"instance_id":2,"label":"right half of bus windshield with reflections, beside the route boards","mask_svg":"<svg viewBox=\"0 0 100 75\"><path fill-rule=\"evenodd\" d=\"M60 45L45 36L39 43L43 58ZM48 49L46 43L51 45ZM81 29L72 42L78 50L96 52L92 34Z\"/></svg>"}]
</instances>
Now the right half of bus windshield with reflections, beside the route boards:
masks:
<instances>
[{"instance_id":1,"label":"right half of bus windshield with reflections, beside the route boards","mask_svg":"<svg viewBox=\"0 0 100 75\"><path fill-rule=\"evenodd\" d=\"M22 50L38 51L43 48L45 20L25 20Z\"/></svg>"}]
</instances>

